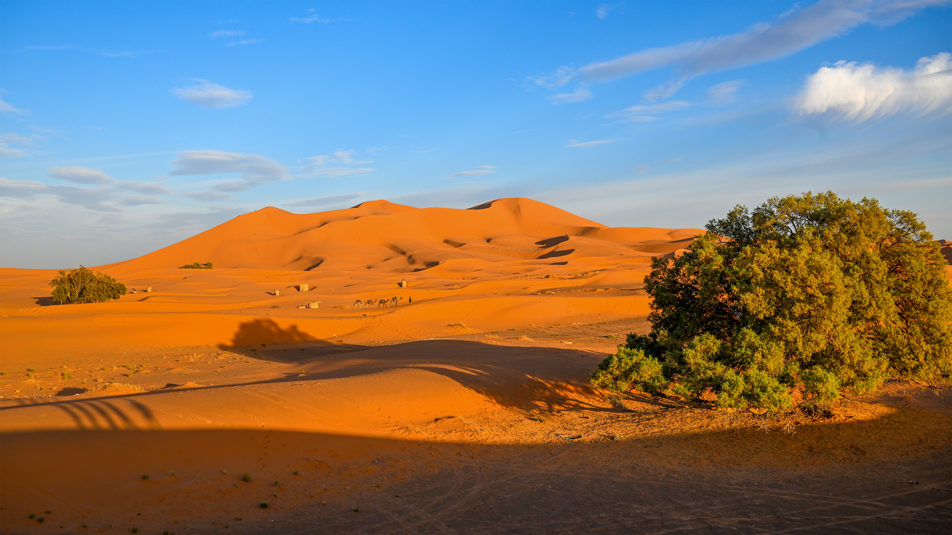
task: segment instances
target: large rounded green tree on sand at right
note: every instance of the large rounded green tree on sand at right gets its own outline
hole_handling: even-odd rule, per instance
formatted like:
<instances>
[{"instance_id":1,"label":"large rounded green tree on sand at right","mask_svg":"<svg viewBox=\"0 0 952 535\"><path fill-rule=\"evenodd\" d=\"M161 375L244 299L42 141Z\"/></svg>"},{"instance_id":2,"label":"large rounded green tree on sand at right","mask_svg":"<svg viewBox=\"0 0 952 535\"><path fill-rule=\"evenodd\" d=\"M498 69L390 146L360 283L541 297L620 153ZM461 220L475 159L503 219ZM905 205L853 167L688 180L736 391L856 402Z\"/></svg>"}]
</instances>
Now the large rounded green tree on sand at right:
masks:
<instances>
[{"instance_id":1,"label":"large rounded green tree on sand at right","mask_svg":"<svg viewBox=\"0 0 952 535\"><path fill-rule=\"evenodd\" d=\"M945 259L916 214L831 191L738 206L645 289L651 331L629 334L591 382L616 391L824 408L849 386L952 375Z\"/></svg>"}]
</instances>

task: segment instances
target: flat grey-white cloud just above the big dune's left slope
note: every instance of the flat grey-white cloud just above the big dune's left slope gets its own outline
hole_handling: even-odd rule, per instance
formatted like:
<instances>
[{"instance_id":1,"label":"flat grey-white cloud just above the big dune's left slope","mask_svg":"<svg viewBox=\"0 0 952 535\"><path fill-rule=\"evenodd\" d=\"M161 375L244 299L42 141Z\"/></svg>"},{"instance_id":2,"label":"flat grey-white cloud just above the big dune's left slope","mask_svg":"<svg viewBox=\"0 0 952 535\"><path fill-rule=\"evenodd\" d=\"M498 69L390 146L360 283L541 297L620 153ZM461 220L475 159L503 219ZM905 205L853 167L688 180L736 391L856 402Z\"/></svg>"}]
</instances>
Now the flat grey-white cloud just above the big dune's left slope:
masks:
<instances>
[{"instance_id":1,"label":"flat grey-white cloud just above the big dune's left slope","mask_svg":"<svg viewBox=\"0 0 952 535\"><path fill-rule=\"evenodd\" d=\"M258 154L242 154L239 152L225 152L223 150L183 150L178 157L172 160L175 168L169 175L197 176L208 174L241 173L240 180L221 182L212 187L217 191L237 192L247 191L263 184L288 180L288 168ZM191 194L192 198L195 194ZM220 198L201 200L231 200Z\"/></svg>"}]
</instances>

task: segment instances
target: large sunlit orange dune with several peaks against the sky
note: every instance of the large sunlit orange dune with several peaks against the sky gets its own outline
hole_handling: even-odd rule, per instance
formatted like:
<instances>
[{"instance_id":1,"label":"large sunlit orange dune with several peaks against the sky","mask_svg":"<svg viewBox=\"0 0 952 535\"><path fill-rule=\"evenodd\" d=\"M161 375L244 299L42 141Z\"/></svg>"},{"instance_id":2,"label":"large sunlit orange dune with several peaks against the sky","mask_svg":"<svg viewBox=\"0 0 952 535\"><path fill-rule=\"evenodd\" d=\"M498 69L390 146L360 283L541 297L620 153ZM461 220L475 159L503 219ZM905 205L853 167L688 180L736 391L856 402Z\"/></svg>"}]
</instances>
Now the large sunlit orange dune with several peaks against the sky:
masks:
<instances>
[{"instance_id":1,"label":"large sunlit orange dune with several peaks against the sky","mask_svg":"<svg viewBox=\"0 0 952 535\"><path fill-rule=\"evenodd\" d=\"M117 273L178 268L195 262L196 255L215 268L316 272L533 270L572 261L617 265L644 263L659 253L684 248L698 232L608 228L523 198L468 209L411 208L387 201L310 214L268 207L168 248L102 268Z\"/></svg>"}]
</instances>

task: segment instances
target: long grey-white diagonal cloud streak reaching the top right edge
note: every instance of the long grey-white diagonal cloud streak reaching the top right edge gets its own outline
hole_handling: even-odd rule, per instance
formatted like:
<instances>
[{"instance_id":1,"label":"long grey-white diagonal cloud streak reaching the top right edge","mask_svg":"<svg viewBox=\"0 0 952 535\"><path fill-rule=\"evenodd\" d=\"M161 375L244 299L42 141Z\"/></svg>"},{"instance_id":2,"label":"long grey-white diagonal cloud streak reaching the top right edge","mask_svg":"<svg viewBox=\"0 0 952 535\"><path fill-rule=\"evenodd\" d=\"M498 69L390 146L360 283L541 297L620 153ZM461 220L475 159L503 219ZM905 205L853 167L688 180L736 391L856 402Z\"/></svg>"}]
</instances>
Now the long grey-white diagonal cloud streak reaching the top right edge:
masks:
<instances>
[{"instance_id":1,"label":"long grey-white diagonal cloud streak reaching the top right edge","mask_svg":"<svg viewBox=\"0 0 952 535\"><path fill-rule=\"evenodd\" d=\"M659 100L674 94L685 80L706 72L738 69L780 59L843 35L857 26L892 25L918 10L947 3L948 0L827 0L803 10L789 10L774 23L758 23L739 33L641 50L577 70L563 67L549 75L530 77L529 81L548 87L565 85L571 79L584 83L608 82L647 70L672 67L677 71L676 78L646 95L648 100Z\"/></svg>"}]
</instances>

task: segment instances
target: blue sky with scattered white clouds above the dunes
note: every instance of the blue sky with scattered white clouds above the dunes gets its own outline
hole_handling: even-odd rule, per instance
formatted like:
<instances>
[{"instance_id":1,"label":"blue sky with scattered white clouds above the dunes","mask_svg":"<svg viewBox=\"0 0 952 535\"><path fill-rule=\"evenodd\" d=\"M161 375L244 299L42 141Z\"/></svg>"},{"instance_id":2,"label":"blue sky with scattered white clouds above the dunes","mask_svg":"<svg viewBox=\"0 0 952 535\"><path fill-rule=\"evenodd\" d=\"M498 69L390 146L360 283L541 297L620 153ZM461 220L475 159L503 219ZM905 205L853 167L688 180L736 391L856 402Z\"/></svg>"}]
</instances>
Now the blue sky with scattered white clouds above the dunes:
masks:
<instances>
[{"instance_id":1,"label":"blue sky with scattered white clouds above the dunes","mask_svg":"<svg viewBox=\"0 0 952 535\"><path fill-rule=\"evenodd\" d=\"M2 2L0 265L265 206L701 228L832 189L952 239L952 3Z\"/></svg>"}]
</instances>

